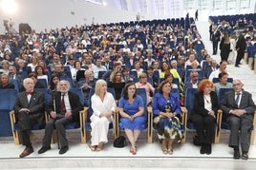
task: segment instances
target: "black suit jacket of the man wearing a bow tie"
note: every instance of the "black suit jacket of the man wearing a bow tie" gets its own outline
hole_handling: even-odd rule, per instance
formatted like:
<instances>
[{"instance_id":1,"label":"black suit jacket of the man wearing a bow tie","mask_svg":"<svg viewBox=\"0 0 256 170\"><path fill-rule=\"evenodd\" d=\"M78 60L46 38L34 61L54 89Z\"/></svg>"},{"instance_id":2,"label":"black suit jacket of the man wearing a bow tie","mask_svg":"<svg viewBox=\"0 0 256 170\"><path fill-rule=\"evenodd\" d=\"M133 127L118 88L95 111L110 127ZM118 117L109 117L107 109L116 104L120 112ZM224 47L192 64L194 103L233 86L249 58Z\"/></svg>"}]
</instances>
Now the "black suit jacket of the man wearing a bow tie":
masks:
<instances>
[{"instance_id":1,"label":"black suit jacket of the man wearing a bow tie","mask_svg":"<svg viewBox=\"0 0 256 170\"><path fill-rule=\"evenodd\" d=\"M28 102L26 92L20 92L14 105L15 114L19 114L21 108L29 108L30 117L39 124L44 123L45 95L42 92L33 91L30 102Z\"/></svg>"}]
</instances>

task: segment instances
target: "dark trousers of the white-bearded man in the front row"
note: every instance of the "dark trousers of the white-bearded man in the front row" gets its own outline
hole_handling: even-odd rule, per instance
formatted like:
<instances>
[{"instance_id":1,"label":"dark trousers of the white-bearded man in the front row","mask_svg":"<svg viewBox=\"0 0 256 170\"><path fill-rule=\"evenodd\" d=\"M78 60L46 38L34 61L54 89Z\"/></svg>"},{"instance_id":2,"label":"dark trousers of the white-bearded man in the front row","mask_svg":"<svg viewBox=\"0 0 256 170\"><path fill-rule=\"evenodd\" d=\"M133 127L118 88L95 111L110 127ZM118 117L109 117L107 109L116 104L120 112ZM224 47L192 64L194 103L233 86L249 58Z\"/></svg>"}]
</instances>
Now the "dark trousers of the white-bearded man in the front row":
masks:
<instances>
[{"instance_id":1,"label":"dark trousers of the white-bearded man in the front row","mask_svg":"<svg viewBox=\"0 0 256 170\"><path fill-rule=\"evenodd\" d=\"M51 119L45 126L45 136L43 138L43 146L50 147L53 130L57 131L57 138L60 144L60 148L68 145L68 140L66 139L66 123L72 123L72 117L65 118L64 115L57 114L55 119Z\"/></svg>"}]
</instances>

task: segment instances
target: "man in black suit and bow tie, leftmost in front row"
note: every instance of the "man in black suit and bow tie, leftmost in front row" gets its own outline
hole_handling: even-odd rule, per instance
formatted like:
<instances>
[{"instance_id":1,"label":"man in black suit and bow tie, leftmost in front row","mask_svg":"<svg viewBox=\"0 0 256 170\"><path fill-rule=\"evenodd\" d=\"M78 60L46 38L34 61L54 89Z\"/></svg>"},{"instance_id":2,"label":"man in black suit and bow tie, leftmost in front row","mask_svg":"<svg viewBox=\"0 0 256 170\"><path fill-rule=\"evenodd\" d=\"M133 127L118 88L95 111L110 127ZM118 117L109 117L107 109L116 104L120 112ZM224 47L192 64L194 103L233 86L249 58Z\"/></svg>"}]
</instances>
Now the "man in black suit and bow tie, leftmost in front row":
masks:
<instances>
[{"instance_id":1,"label":"man in black suit and bow tie, leftmost in front row","mask_svg":"<svg viewBox=\"0 0 256 170\"><path fill-rule=\"evenodd\" d=\"M23 81L25 91L20 92L14 111L17 115L17 121L21 132L25 150L20 154L20 158L26 157L33 152L31 140L32 125L34 123L44 124L45 97L42 92L34 91L34 84L31 78Z\"/></svg>"}]
</instances>

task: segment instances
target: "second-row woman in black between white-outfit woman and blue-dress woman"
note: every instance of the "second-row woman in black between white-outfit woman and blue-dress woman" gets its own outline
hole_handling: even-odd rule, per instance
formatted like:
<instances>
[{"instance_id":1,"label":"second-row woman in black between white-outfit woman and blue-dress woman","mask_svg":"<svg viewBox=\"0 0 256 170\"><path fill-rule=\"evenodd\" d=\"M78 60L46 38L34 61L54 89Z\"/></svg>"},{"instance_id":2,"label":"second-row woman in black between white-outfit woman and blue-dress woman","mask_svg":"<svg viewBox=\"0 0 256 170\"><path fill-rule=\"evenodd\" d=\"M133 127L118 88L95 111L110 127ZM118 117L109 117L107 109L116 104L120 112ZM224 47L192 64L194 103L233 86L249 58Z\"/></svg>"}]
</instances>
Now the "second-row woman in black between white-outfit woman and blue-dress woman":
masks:
<instances>
[{"instance_id":1,"label":"second-row woman in black between white-outfit woman and blue-dress woman","mask_svg":"<svg viewBox=\"0 0 256 170\"><path fill-rule=\"evenodd\" d=\"M108 87L112 87L115 89L116 102L118 102L121 98L121 91L124 85L125 82L122 79L121 71L113 71L110 75L110 82L108 84Z\"/></svg>"}]
</instances>

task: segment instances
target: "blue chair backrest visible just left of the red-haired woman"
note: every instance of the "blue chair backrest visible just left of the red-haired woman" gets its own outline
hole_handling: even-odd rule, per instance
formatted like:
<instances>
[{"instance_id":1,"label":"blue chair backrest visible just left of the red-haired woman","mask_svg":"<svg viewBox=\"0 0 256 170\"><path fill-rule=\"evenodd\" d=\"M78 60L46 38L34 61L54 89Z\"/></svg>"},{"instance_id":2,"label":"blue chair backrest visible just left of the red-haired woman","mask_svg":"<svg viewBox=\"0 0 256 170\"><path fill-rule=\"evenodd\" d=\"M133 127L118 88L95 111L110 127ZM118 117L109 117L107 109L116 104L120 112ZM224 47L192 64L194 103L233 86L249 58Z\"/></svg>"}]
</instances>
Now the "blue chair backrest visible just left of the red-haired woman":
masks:
<instances>
[{"instance_id":1,"label":"blue chair backrest visible just left of the red-haired woman","mask_svg":"<svg viewBox=\"0 0 256 170\"><path fill-rule=\"evenodd\" d=\"M186 88L185 90L185 107L187 109L187 127L189 129L193 129L193 125L192 123L189 122L190 120L190 116L191 116L191 112L193 110L193 104L194 104L194 98L195 98L195 94L198 92L198 88Z\"/></svg>"}]
</instances>

